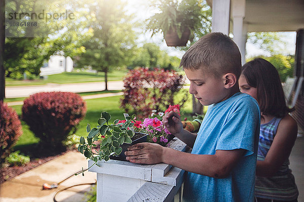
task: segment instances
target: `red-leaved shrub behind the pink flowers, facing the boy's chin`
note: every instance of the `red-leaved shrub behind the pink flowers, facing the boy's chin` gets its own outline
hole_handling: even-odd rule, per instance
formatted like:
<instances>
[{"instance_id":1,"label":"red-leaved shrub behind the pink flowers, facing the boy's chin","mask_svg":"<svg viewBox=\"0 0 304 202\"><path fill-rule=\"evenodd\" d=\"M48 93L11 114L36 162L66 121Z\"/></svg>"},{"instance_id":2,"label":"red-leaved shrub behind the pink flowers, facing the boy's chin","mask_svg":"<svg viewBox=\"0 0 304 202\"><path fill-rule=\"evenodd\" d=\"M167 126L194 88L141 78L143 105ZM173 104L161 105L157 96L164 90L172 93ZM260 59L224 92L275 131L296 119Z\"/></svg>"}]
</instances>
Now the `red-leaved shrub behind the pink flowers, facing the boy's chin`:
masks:
<instances>
[{"instance_id":1,"label":"red-leaved shrub behind the pink flowers, facing the boy's chin","mask_svg":"<svg viewBox=\"0 0 304 202\"><path fill-rule=\"evenodd\" d=\"M121 108L136 113L139 118L147 117L152 110L165 111L174 105L173 97L182 89L183 84L183 76L175 71L149 71L144 68L131 70L124 79ZM186 99L187 93L179 101L180 107Z\"/></svg>"}]
</instances>

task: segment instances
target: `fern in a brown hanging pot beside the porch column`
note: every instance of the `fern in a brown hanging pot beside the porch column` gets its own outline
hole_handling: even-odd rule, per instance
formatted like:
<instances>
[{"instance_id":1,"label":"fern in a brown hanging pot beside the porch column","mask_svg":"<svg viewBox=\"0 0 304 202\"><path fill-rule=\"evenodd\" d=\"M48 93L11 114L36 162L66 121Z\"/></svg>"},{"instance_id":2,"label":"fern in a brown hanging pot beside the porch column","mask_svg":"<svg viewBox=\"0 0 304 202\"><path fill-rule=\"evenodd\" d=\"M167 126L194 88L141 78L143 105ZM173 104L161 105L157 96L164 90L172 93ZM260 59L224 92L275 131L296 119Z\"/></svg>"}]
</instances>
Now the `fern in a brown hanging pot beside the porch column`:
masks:
<instances>
[{"instance_id":1,"label":"fern in a brown hanging pot beside the porch column","mask_svg":"<svg viewBox=\"0 0 304 202\"><path fill-rule=\"evenodd\" d=\"M193 40L194 31L203 27L200 0L158 0L152 6L160 13L147 19L147 30L152 35L163 32L168 46L185 46L189 39Z\"/></svg>"}]
</instances>

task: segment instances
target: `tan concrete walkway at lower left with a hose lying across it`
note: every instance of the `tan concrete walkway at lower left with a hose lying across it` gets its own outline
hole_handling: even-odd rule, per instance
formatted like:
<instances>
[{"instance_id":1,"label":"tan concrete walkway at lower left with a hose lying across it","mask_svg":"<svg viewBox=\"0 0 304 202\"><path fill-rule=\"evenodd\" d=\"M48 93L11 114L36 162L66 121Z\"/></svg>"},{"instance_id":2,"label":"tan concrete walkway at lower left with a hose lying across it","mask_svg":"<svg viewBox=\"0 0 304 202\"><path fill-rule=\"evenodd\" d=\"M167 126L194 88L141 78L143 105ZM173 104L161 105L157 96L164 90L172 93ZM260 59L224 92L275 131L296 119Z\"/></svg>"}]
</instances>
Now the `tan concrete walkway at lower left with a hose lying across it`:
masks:
<instances>
[{"instance_id":1,"label":"tan concrete walkway at lower left with a hose lying across it","mask_svg":"<svg viewBox=\"0 0 304 202\"><path fill-rule=\"evenodd\" d=\"M65 180L55 189L43 190L44 183L58 183L68 176L88 168L88 160L78 151L68 153L51 160L39 167L27 171L12 180L0 185L1 202L52 202L55 193L75 184L94 183L96 173L85 172L85 176L77 175ZM56 196L57 201L78 202L85 201L85 193L91 185L81 185L68 188Z\"/></svg>"}]
</instances>

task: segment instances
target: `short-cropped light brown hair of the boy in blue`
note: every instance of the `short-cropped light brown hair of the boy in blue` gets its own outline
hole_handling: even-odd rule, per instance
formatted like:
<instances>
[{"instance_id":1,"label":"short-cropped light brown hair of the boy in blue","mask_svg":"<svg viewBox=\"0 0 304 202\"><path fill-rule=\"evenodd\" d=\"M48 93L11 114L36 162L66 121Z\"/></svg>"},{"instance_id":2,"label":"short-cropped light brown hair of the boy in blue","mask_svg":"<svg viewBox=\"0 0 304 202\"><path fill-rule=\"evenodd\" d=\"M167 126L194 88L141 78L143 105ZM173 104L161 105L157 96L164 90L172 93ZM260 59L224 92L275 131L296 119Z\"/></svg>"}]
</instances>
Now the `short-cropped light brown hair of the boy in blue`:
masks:
<instances>
[{"instance_id":1,"label":"short-cropped light brown hair of the boy in blue","mask_svg":"<svg viewBox=\"0 0 304 202\"><path fill-rule=\"evenodd\" d=\"M215 77L233 73L241 75L241 54L237 44L227 35L212 32L201 37L183 55L179 67L203 69Z\"/></svg>"}]
</instances>

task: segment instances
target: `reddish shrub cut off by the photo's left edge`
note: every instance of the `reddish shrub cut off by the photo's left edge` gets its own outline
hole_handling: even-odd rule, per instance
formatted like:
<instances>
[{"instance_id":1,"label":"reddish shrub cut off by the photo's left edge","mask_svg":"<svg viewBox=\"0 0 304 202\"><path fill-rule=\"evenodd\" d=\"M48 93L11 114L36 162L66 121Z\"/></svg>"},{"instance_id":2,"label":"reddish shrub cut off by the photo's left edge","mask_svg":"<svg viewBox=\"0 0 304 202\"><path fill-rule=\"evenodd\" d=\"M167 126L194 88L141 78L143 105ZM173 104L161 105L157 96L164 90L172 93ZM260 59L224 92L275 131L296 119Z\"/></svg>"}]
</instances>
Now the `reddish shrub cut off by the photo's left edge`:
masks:
<instances>
[{"instance_id":1,"label":"reddish shrub cut off by the photo's left edge","mask_svg":"<svg viewBox=\"0 0 304 202\"><path fill-rule=\"evenodd\" d=\"M12 146L21 135L22 127L17 113L0 102L0 163L9 156Z\"/></svg>"}]
</instances>

